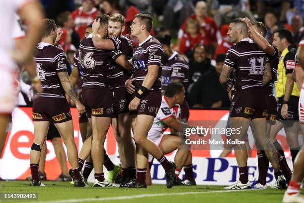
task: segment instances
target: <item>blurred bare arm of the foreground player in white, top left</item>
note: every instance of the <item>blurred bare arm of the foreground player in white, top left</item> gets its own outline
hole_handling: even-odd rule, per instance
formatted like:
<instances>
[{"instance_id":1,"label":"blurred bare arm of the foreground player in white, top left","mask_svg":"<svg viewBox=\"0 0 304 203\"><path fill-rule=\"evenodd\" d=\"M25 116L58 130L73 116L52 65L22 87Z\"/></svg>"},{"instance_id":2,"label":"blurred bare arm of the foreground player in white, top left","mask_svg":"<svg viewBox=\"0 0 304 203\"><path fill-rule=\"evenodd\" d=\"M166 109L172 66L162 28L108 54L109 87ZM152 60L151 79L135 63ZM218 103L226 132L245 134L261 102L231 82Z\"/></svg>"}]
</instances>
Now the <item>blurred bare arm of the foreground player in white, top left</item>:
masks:
<instances>
[{"instance_id":1,"label":"blurred bare arm of the foreground player in white, top left","mask_svg":"<svg viewBox=\"0 0 304 203\"><path fill-rule=\"evenodd\" d=\"M37 32L37 30L43 29L44 14L40 4L35 1L26 3L18 14L27 22L27 34L22 48L13 53L13 58L18 64L22 64L32 57L37 48L42 35L42 32Z\"/></svg>"}]
</instances>

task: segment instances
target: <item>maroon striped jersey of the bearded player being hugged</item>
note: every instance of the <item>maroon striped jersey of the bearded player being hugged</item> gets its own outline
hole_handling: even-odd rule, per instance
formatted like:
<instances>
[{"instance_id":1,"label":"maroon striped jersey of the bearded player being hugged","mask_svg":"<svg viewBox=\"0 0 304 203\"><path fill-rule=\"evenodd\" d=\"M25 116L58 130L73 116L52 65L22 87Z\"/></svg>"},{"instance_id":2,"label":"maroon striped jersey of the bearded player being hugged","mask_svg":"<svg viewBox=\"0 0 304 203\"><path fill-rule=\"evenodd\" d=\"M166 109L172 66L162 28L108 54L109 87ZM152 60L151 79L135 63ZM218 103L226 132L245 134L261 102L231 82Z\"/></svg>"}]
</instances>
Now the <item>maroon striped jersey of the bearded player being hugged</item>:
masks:
<instances>
[{"instance_id":1,"label":"maroon striped jersey of the bearded player being hugged","mask_svg":"<svg viewBox=\"0 0 304 203\"><path fill-rule=\"evenodd\" d=\"M115 63L115 60L122 54L125 54L128 59L133 57L133 45L128 37L118 36L112 38L112 41L117 50L113 51L112 61L109 66L109 82L111 88L125 87L125 82L131 77L126 69Z\"/></svg>"}]
</instances>

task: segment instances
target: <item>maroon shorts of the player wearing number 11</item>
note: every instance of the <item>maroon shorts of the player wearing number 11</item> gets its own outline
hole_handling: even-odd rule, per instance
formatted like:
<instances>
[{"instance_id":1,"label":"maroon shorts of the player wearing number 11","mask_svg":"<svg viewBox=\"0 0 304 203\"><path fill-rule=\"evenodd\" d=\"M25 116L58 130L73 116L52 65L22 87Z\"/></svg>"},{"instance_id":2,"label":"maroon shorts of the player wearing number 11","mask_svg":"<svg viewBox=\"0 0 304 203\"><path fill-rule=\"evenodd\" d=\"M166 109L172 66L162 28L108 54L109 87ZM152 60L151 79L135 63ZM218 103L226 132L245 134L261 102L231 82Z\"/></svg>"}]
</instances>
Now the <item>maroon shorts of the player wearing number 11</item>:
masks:
<instances>
[{"instance_id":1,"label":"maroon shorts of the player wearing number 11","mask_svg":"<svg viewBox=\"0 0 304 203\"><path fill-rule=\"evenodd\" d=\"M262 89L248 88L235 91L230 106L230 117L265 118L267 100Z\"/></svg>"}]
</instances>

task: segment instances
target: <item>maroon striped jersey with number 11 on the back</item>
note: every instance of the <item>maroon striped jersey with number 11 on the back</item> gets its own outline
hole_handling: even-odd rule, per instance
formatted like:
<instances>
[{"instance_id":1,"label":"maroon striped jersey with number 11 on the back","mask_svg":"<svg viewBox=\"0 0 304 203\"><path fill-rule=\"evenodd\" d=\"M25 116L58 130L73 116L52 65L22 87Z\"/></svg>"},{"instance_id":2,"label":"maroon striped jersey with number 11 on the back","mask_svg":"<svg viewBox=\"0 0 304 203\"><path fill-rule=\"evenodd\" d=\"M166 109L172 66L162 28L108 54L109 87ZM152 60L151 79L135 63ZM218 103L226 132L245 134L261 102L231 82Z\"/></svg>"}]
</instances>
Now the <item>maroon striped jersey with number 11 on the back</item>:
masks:
<instances>
[{"instance_id":1,"label":"maroon striped jersey with number 11 on the back","mask_svg":"<svg viewBox=\"0 0 304 203\"><path fill-rule=\"evenodd\" d=\"M233 68L235 91L262 88L265 64L269 59L257 43L245 38L228 49L224 64Z\"/></svg>"}]
</instances>

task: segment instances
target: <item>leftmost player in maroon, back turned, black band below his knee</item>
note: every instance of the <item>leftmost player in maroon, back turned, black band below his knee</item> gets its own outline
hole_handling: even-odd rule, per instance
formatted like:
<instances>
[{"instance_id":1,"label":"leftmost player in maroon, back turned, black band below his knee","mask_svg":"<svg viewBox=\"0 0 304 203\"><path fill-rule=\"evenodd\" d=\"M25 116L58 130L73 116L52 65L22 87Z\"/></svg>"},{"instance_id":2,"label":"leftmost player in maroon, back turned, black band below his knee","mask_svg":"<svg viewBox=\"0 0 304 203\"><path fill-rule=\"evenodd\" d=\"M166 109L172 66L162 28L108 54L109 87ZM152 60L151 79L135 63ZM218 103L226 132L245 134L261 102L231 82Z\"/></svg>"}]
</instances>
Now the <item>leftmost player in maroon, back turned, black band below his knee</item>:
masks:
<instances>
[{"instance_id":1,"label":"leftmost player in maroon, back turned, black band below his knee","mask_svg":"<svg viewBox=\"0 0 304 203\"><path fill-rule=\"evenodd\" d=\"M62 49L54 46L57 26L54 20L46 19L42 41L35 55L36 68L44 90L33 102L34 142L30 152L31 186L44 186L38 176L41 147L45 141L50 121L54 122L68 150L68 159L75 176L75 187L87 187L77 162L77 148L69 104L65 92L75 102L79 113L85 108L79 102L67 72L67 58ZM64 91L62 90L64 89Z\"/></svg>"}]
</instances>

